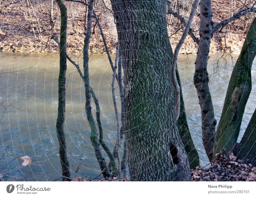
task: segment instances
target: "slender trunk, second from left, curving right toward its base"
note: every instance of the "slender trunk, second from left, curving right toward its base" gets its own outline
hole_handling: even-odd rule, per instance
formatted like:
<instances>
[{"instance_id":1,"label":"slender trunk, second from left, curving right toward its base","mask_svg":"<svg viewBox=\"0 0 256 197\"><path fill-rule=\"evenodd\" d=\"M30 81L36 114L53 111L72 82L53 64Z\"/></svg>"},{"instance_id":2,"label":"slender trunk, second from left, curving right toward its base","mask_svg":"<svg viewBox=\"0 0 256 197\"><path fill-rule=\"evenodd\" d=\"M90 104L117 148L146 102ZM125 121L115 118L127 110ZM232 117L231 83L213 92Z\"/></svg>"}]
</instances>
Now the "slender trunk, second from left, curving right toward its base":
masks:
<instances>
[{"instance_id":1,"label":"slender trunk, second from left, curving right toward its base","mask_svg":"<svg viewBox=\"0 0 256 197\"><path fill-rule=\"evenodd\" d=\"M98 141L98 134L97 134L97 127L95 125L93 115L92 115L92 107L91 107L91 88L90 88L90 80L89 80L89 56L88 56L88 49L89 49L89 42L92 33L92 11L93 11L93 4L94 0L90 0L89 7L88 7L88 15L87 15L87 31L86 36L84 38L84 87L85 87L85 112L87 115L87 120L89 121L91 127L91 142L92 146L95 151L96 158L98 163L100 164L100 169L104 177L111 176L108 171L107 163L102 156L99 141Z\"/></svg>"}]
</instances>

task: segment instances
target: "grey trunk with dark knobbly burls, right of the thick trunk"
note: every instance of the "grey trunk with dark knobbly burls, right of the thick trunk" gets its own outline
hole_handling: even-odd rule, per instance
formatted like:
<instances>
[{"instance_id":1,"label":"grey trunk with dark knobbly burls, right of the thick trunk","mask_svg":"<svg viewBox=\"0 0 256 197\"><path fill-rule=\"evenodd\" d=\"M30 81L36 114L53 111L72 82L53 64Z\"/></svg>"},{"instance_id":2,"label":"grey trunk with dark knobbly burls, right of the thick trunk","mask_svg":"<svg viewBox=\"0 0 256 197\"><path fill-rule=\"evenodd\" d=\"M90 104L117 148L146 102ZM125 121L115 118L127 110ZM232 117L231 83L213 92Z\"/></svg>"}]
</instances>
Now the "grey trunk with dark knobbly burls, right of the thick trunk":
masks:
<instances>
[{"instance_id":1,"label":"grey trunk with dark knobbly burls, right of the thick trunk","mask_svg":"<svg viewBox=\"0 0 256 197\"><path fill-rule=\"evenodd\" d=\"M197 91L202 116L202 139L205 152L212 161L215 126L217 120L214 117L212 98L209 90L207 62L212 39L212 10L211 0L200 1L200 39L196 55L194 84Z\"/></svg>"}]
</instances>

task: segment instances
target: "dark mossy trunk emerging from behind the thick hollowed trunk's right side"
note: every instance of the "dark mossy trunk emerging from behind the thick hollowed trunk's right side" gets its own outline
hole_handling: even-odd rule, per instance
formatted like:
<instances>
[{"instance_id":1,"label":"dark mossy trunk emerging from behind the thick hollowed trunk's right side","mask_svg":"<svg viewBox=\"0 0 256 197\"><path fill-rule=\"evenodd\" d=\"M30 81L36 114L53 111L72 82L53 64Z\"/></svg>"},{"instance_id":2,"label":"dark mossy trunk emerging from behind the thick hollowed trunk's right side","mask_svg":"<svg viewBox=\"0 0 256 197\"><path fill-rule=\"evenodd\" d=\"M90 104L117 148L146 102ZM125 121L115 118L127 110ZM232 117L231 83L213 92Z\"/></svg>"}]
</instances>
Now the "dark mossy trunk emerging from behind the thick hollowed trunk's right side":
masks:
<instances>
[{"instance_id":1,"label":"dark mossy trunk emerging from behind the thick hollowed trunk's right side","mask_svg":"<svg viewBox=\"0 0 256 197\"><path fill-rule=\"evenodd\" d=\"M199 155L198 155L198 152L196 150L196 147L193 143L192 137L189 132L187 116L186 116L186 111L185 111L185 105L184 105L184 100L183 100L183 95L182 95L182 90L181 90L181 84L180 84L180 76L179 76L177 67L176 67L176 78L177 78L177 81L180 86L180 116L177 120L177 126L179 129L179 134L180 134L181 140L182 140L182 142L185 146L185 150L188 154L188 161L189 161L190 169L193 169L200 165Z\"/></svg>"}]
</instances>

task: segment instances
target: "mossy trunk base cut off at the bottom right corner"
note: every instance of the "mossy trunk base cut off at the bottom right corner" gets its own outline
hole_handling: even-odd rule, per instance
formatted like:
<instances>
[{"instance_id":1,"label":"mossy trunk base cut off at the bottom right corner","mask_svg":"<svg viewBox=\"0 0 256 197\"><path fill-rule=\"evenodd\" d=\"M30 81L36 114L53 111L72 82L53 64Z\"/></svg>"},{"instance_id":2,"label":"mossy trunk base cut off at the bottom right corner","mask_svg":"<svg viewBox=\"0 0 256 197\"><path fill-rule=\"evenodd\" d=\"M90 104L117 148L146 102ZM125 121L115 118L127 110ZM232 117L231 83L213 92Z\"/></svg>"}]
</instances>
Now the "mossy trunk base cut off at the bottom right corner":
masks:
<instances>
[{"instance_id":1,"label":"mossy trunk base cut off at the bottom right corner","mask_svg":"<svg viewBox=\"0 0 256 197\"><path fill-rule=\"evenodd\" d=\"M241 160L250 159L253 165L256 165L256 109L245 130L240 143L237 144L235 154Z\"/></svg>"}]
</instances>

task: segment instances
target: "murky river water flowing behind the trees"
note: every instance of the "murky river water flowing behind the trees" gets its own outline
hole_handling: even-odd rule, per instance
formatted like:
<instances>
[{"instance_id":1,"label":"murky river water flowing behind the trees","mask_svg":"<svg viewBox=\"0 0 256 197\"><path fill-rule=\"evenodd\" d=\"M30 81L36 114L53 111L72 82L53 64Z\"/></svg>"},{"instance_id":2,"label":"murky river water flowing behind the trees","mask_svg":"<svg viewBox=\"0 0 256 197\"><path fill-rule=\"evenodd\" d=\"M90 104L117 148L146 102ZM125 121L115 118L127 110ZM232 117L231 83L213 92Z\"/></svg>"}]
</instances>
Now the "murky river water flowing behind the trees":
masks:
<instances>
[{"instance_id":1,"label":"murky river water flowing behind the trees","mask_svg":"<svg viewBox=\"0 0 256 197\"><path fill-rule=\"evenodd\" d=\"M211 55L208 72L212 74L221 54ZM72 57L82 63L82 57ZM180 55L178 60L188 125L202 166L209 163L201 139L201 113L193 84L195 55ZM235 64L237 56L234 56ZM220 59L220 73L210 77L210 90L217 121L220 120L233 64ZM90 55L91 85L100 101L104 140L113 149L116 141L115 113L109 81L112 70L107 55ZM224 69L224 65L225 68ZM19 71L18 71L19 70ZM216 69L215 69L216 70ZM13 72L18 71L18 72ZM0 53L0 170L7 180L55 180L61 176L56 135L58 109L59 55ZM8 73L9 72L9 73ZM247 102L239 140L255 109L255 74L252 66L252 92ZM90 142L85 115L84 84L76 68L68 62L65 132L73 177L96 177L100 168ZM118 107L119 93L116 88ZM7 107L9 106L9 107ZM6 108L6 110L5 110ZM95 106L92 103L95 115ZM122 147L123 148L123 147ZM121 148L121 149L122 149ZM108 157L103 153L106 160ZM20 157L29 156L32 164L20 167ZM77 170L79 168L79 170ZM99 177L100 178L100 177ZM60 179L59 179L60 180Z\"/></svg>"}]
</instances>

